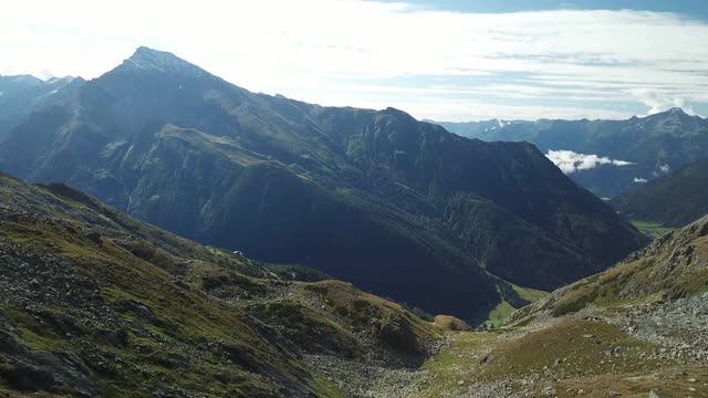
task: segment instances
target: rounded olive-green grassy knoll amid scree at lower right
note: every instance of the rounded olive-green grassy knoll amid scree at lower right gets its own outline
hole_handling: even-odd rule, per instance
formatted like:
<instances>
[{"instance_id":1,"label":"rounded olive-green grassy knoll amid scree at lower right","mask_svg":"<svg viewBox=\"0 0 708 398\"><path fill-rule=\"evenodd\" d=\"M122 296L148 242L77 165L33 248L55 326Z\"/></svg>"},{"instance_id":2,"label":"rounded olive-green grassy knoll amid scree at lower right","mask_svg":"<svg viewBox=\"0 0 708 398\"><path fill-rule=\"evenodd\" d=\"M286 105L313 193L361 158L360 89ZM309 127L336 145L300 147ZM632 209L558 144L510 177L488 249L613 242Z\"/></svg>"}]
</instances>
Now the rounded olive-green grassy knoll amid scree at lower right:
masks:
<instances>
[{"instance_id":1,"label":"rounded olive-green grassy knoll amid scree at lower right","mask_svg":"<svg viewBox=\"0 0 708 398\"><path fill-rule=\"evenodd\" d=\"M614 347L621 357L607 356ZM476 383L493 381L506 384L510 392L529 388L520 383L525 377L552 373L558 379L537 383L533 396L544 396L543 389L552 387L558 397L607 397L611 390L622 397L646 397L650 389L662 390L662 397L684 397L684 391L698 387L689 378L708 376L706 367L639 354L656 349L614 326L576 318L540 331L462 333L423 366L435 381L419 396L464 396L478 391Z\"/></svg>"}]
</instances>

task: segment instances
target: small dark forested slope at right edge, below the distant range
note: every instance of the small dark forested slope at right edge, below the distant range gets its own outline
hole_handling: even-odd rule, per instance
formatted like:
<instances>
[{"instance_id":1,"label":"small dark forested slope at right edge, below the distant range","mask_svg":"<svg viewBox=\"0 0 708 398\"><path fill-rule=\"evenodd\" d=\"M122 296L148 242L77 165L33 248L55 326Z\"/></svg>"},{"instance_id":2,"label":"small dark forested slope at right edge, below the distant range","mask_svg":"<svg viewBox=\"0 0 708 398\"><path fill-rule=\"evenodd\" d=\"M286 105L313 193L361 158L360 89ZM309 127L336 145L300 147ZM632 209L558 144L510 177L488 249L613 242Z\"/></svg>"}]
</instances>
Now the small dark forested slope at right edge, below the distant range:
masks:
<instances>
[{"instance_id":1,"label":"small dark forested slope at right edge, below the distant range","mask_svg":"<svg viewBox=\"0 0 708 398\"><path fill-rule=\"evenodd\" d=\"M683 227L708 213L708 160L638 186L611 205L631 219Z\"/></svg>"}]
</instances>

